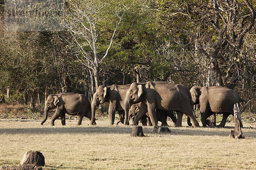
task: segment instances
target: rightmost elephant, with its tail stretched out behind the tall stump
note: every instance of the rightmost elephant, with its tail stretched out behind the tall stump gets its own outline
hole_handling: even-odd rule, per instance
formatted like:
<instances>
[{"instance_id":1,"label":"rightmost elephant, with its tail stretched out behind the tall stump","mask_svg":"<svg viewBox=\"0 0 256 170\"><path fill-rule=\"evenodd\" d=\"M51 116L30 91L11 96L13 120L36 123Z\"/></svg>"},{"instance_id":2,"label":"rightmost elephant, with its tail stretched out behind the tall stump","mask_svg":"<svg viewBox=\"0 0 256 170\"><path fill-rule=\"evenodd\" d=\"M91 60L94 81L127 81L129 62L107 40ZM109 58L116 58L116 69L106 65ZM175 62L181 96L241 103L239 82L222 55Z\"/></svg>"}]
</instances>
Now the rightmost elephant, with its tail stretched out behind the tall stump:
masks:
<instances>
[{"instance_id":1,"label":"rightmost elephant, with its tail stretched out behind the tall stump","mask_svg":"<svg viewBox=\"0 0 256 170\"><path fill-rule=\"evenodd\" d=\"M198 87L193 86L190 89L193 105L200 104L201 122L203 127L207 125L207 118L213 113L223 114L219 127L224 127L227 117L234 115L234 104L250 100L241 99L241 97L229 88L222 86Z\"/></svg>"}]
</instances>

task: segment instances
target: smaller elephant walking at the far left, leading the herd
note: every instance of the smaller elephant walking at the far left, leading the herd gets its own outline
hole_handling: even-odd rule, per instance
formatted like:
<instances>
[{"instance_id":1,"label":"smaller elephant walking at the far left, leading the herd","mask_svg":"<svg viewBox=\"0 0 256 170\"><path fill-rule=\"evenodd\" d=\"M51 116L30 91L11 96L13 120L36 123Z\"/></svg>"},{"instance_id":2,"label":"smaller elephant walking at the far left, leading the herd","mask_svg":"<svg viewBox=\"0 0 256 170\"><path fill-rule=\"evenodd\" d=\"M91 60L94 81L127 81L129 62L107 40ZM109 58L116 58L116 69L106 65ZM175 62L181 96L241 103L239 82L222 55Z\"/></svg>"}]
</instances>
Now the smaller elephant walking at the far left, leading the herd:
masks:
<instances>
[{"instance_id":1,"label":"smaller elephant walking at the far left, leading the herd","mask_svg":"<svg viewBox=\"0 0 256 170\"><path fill-rule=\"evenodd\" d=\"M61 124L66 125L65 113L69 115L77 115L78 123L81 125L83 117L91 120L90 125L96 125L95 119L91 118L91 105L89 99L83 94L76 93L61 93L50 94L47 96L44 107L44 120L41 125L47 120L48 111L56 108L55 114L52 116L51 125L54 126L54 121L61 117Z\"/></svg>"}]
</instances>

